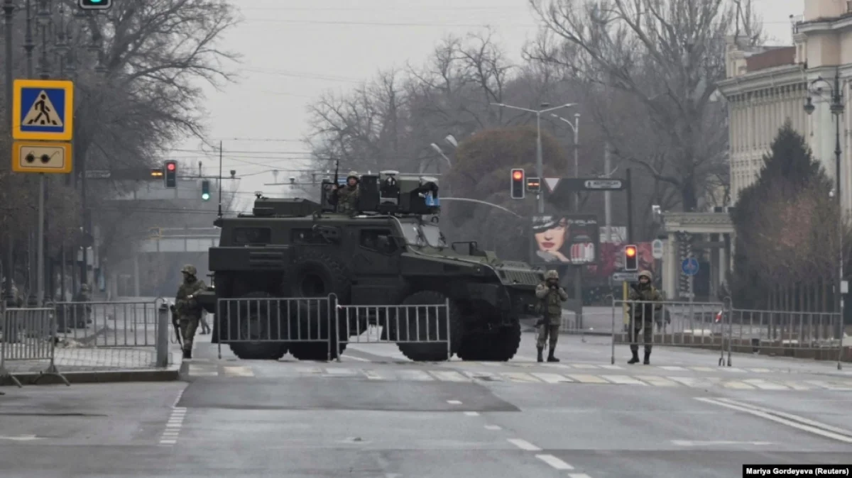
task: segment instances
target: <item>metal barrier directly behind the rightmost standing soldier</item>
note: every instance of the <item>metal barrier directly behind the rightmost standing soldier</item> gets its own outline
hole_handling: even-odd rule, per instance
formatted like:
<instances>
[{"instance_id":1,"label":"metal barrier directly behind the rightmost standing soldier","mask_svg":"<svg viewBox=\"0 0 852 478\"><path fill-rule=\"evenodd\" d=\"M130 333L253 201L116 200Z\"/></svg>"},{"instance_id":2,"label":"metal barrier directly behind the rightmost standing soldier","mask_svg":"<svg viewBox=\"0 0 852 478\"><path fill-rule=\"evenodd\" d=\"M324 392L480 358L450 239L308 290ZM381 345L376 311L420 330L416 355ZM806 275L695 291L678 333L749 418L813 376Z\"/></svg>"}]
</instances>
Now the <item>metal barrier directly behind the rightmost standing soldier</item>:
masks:
<instances>
[{"instance_id":1,"label":"metal barrier directly behind the rightmost standing soldier","mask_svg":"<svg viewBox=\"0 0 852 478\"><path fill-rule=\"evenodd\" d=\"M722 366L730 328L726 310L721 302L613 300L612 361L616 344L659 345L719 350Z\"/></svg>"}]
</instances>

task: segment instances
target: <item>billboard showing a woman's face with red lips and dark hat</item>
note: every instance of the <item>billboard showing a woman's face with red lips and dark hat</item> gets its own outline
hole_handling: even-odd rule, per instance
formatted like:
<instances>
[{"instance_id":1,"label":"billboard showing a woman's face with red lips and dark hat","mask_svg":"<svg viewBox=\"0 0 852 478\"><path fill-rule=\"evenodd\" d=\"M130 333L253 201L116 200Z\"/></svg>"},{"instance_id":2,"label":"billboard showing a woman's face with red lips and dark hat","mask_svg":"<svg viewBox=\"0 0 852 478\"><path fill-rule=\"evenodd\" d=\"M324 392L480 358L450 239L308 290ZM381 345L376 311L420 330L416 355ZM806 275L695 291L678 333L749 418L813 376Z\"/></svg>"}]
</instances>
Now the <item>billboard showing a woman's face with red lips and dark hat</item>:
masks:
<instances>
[{"instance_id":1,"label":"billboard showing a woman's face with red lips and dark hat","mask_svg":"<svg viewBox=\"0 0 852 478\"><path fill-rule=\"evenodd\" d=\"M597 216L533 216L533 265L591 265L598 259Z\"/></svg>"}]
</instances>

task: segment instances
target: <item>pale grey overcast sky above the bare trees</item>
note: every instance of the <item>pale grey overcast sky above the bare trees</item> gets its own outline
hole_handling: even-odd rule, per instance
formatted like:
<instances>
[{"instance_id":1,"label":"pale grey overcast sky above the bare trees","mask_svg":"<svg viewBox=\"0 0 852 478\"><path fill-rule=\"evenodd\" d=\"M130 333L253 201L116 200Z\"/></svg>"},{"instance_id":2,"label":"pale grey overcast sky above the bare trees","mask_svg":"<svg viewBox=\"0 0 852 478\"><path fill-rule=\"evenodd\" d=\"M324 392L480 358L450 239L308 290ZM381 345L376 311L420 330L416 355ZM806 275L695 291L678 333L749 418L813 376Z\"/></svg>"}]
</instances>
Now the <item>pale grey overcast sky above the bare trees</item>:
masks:
<instances>
[{"instance_id":1,"label":"pale grey overcast sky above the bare trees","mask_svg":"<svg viewBox=\"0 0 852 478\"><path fill-rule=\"evenodd\" d=\"M756 0L771 43L791 43L789 16L804 0ZM243 55L239 83L208 90L210 139L224 145L224 174L235 169L241 199L252 191L281 196L287 170L306 168L306 108L323 91L345 91L379 70L411 61L422 65L447 34L488 25L512 59L535 35L527 0L233 0L245 20L225 37ZM404 3L404 5L400 5ZM318 6L319 5L319 6ZM566 99L573 101L574 99ZM556 101L556 100L554 100ZM436 138L438 139L438 138ZM216 174L217 155L193 139L171 156L184 168ZM301 161L300 161L301 160ZM186 170L186 169L184 169Z\"/></svg>"}]
</instances>

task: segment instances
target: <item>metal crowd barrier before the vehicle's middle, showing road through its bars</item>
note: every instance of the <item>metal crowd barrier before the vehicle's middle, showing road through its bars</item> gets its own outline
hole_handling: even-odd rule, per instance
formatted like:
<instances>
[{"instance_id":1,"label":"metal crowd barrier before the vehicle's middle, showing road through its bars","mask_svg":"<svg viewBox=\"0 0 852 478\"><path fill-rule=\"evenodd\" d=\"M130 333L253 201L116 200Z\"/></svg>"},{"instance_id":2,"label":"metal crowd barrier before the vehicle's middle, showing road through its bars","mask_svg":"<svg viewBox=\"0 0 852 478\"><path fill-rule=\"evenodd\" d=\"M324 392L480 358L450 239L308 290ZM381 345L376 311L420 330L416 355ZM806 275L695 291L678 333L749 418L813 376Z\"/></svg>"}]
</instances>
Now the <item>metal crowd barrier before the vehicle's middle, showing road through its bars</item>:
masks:
<instances>
[{"instance_id":1,"label":"metal crowd barrier before the vehicle's middle, showing road through its bars","mask_svg":"<svg viewBox=\"0 0 852 478\"><path fill-rule=\"evenodd\" d=\"M435 344L450 342L450 303L403 305L340 305L337 309L338 343L347 344ZM340 361L340 356L337 357Z\"/></svg>"}]
</instances>

